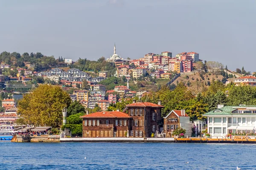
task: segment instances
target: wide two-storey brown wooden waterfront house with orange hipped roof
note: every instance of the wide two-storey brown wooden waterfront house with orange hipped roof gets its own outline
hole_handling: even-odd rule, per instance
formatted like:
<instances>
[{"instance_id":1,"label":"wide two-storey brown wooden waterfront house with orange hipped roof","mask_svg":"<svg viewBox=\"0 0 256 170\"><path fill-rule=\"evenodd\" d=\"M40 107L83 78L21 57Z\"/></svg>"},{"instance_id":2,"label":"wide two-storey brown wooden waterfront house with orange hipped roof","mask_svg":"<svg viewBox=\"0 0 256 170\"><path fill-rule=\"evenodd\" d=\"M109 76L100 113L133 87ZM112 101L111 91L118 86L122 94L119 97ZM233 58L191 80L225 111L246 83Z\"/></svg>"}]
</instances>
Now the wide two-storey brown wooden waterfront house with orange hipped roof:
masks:
<instances>
[{"instance_id":1,"label":"wide two-storey brown wooden waterfront house with orange hipped roof","mask_svg":"<svg viewBox=\"0 0 256 170\"><path fill-rule=\"evenodd\" d=\"M81 116L83 137L126 137L130 116L120 111L102 111Z\"/></svg>"}]
</instances>

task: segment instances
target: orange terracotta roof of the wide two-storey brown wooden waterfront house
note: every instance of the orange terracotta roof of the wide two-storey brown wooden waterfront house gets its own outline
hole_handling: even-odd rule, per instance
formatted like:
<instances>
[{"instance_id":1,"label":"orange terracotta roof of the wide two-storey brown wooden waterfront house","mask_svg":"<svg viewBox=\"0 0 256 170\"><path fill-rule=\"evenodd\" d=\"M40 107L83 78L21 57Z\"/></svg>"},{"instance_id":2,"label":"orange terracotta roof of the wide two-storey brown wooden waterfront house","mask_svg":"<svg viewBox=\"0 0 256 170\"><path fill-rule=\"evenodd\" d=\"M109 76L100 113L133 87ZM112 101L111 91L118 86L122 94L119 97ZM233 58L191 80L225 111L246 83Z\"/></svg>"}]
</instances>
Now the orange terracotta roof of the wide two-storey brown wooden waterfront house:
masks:
<instances>
[{"instance_id":1,"label":"orange terracotta roof of the wide two-storey brown wooden waterfront house","mask_svg":"<svg viewBox=\"0 0 256 170\"><path fill-rule=\"evenodd\" d=\"M130 116L120 111L102 111L84 115L80 118L130 118Z\"/></svg>"}]
</instances>

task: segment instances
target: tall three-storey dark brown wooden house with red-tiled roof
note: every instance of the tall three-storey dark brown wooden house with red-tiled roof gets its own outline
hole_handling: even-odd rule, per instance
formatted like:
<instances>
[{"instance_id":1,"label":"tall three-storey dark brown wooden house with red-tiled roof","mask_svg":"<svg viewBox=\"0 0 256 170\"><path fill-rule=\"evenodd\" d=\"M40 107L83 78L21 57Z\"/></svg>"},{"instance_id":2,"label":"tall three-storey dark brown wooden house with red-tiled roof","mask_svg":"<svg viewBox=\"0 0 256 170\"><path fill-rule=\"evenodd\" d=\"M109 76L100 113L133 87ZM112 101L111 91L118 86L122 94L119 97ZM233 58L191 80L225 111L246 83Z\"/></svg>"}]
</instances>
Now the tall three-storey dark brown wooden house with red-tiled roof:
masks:
<instances>
[{"instance_id":1,"label":"tall three-storey dark brown wooden house with red-tiled roof","mask_svg":"<svg viewBox=\"0 0 256 170\"><path fill-rule=\"evenodd\" d=\"M161 102L135 102L126 105L123 112L128 111L131 117L129 124L130 137L151 137L151 134L160 131L161 125Z\"/></svg>"}]
</instances>

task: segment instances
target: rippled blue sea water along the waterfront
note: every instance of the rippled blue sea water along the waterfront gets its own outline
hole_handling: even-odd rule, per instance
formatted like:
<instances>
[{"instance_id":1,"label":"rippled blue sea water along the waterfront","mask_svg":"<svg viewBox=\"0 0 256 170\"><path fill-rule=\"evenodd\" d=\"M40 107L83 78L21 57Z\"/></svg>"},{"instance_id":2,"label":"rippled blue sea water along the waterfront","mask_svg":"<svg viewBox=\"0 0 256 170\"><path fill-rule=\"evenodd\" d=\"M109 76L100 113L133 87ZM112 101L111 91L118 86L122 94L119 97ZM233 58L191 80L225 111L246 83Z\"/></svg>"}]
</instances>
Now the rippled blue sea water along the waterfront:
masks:
<instances>
[{"instance_id":1,"label":"rippled blue sea water along the waterfront","mask_svg":"<svg viewBox=\"0 0 256 170\"><path fill-rule=\"evenodd\" d=\"M0 142L0 169L252 170L255 153L256 144Z\"/></svg>"}]
</instances>

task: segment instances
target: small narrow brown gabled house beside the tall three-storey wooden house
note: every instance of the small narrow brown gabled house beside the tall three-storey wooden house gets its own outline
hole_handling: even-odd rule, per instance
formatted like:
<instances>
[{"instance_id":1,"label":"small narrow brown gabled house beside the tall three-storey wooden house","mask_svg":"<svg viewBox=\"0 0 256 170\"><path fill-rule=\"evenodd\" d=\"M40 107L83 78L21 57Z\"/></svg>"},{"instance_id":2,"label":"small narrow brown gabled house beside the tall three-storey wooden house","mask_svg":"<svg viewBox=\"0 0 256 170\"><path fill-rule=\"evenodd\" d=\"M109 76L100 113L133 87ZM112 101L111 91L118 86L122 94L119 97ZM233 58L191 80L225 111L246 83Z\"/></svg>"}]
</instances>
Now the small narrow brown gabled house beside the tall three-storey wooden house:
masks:
<instances>
[{"instance_id":1,"label":"small narrow brown gabled house beside the tall three-storey wooden house","mask_svg":"<svg viewBox=\"0 0 256 170\"><path fill-rule=\"evenodd\" d=\"M180 127L183 117L189 116L185 113L185 110L172 110L166 117L163 118L163 131L167 138L172 137L172 132Z\"/></svg>"}]
</instances>

